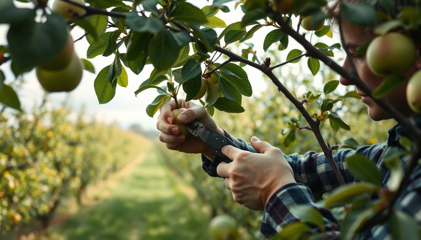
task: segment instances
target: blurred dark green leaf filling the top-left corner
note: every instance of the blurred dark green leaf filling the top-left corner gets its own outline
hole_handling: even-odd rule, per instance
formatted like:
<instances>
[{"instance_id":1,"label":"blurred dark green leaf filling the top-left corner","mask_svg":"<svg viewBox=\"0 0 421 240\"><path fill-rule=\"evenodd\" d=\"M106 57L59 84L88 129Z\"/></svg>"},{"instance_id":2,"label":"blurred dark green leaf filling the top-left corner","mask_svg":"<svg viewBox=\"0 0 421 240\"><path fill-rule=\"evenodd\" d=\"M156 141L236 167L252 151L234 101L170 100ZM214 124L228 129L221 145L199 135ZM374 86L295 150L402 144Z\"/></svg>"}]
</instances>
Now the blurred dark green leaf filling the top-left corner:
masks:
<instances>
[{"instance_id":1,"label":"blurred dark green leaf filling the top-left corner","mask_svg":"<svg viewBox=\"0 0 421 240\"><path fill-rule=\"evenodd\" d=\"M32 15L32 9L16 8L13 0L0 1L0 24L16 24Z\"/></svg>"}]
</instances>

